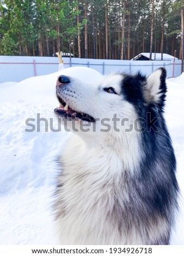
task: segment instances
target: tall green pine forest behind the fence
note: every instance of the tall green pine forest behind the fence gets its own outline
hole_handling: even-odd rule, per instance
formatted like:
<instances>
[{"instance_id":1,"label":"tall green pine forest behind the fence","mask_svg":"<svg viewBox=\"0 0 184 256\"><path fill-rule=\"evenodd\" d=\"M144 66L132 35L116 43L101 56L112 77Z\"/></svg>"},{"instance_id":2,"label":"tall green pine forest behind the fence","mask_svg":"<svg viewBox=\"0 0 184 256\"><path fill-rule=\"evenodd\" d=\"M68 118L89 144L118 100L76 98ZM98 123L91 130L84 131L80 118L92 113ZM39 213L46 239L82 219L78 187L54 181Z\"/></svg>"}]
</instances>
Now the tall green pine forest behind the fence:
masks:
<instances>
[{"instance_id":1,"label":"tall green pine forest behind the fence","mask_svg":"<svg viewBox=\"0 0 184 256\"><path fill-rule=\"evenodd\" d=\"M183 0L2 0L0 54L183 59Z\"/></svg>"}]
</instances>

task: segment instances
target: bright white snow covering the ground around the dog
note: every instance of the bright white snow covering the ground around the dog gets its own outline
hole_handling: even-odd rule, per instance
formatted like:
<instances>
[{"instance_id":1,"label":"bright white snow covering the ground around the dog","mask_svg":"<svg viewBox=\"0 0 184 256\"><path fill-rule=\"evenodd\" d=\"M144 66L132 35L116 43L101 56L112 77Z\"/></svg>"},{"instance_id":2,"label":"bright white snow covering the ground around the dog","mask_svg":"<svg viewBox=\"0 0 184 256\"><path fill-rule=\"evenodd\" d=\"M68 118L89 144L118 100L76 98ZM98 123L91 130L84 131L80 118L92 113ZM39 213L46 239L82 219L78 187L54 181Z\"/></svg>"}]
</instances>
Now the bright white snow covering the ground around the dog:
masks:
<instances>
[{"instance_id":1,"label":"bright white snow covering the ground around the dog","mask_svg":"<svg viewBox=\"0 0 184 256\"><path fill-rule=\"evenodd\" d=\"M62 150L69 133L56 129L53 109L58 105L55 96L56 78L69 75L65 69L51 75L31 77L19 83L0 84L0 245L53 245L52 194L57 168L54 158ZM91 72L91 71L90 71ZM86 74L88 80L97 78L96 71ZM79 70L72 70L79 76ZM167 80L168 97L165 118L177 157L177 178L181 188L180 214L171 244L184 245L184 73ZM48 120L36 124L37 114ZM33 118L30 129L25 121Z\"/></svg>"}]
</instances>

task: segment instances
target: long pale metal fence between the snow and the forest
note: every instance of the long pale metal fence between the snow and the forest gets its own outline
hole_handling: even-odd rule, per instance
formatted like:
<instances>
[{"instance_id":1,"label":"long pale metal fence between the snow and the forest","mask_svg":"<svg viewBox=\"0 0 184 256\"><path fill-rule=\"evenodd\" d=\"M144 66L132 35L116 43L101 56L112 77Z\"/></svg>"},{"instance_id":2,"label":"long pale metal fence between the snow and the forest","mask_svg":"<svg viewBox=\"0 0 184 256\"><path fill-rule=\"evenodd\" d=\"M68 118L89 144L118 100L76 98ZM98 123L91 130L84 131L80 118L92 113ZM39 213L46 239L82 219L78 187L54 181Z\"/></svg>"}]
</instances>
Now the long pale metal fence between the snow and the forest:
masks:
<instances>
[{"instance_id":1,"label":"long pale metal fence between the snow and the forest","mask_svg":"<svg viewBox=\"0 0 184 256\"><path fill-rule=\"evenodd\" d=\"M65 68L70 66L88 66L103 75L112 72L126 72L134 74L142 72L149 75L154 70L164 67L167 77L181 74L181 60L110 60L110 59L79 59L63 58ZM58 71L57 57L24 57L0 56L0 83L19 82L28 77L51 74Z\"/></svg>"}]
</instances>

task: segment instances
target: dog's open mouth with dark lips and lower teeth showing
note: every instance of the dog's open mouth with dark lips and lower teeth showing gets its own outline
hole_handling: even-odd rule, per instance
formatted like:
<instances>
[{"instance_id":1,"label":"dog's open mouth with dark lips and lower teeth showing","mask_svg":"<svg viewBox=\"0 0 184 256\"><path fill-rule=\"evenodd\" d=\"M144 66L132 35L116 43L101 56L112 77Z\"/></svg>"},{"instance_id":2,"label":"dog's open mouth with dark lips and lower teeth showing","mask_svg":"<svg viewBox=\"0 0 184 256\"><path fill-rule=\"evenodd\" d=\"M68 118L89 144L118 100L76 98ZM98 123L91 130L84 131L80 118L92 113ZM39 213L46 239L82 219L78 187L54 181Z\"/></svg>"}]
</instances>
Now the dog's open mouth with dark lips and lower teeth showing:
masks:
<instances>
[{"instance_id":1,"label":"dog's open mouth with dark lips and lower teeth showing","mask_svg":"<svg viewBox=\"0 0 184 256\"><path fill-rule=\"evenodd\" d=\"M59 117L63 117L65 119L81 119L83 121L88 121L90 123L95 122L95 118L91 117L86 113L75 111L58 94L57 94L57 97L60 102L60 105L59 107L54 109L54 112Z\"/></svg>"}]
</instances>

